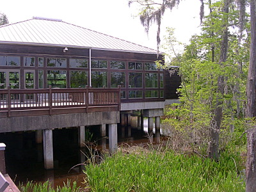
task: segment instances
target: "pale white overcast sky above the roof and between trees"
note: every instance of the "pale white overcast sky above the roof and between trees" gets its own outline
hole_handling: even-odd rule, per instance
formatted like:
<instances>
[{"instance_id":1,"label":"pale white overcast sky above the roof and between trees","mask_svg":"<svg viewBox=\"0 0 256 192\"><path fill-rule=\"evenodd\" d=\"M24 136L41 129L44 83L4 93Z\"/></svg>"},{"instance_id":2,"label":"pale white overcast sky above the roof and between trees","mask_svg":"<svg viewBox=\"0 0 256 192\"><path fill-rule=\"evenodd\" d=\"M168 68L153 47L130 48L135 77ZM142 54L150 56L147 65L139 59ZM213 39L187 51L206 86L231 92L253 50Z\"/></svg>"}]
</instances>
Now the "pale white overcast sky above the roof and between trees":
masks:
<instances>
[{"instance_id":1,"label":"pale white overcast sky above the roof and between trees","mask_svg":"<svg viewBox=\"0 0 256 192\"><path fill-rule=\"evenodd\" d=\"M140 23L138 6L128 6L127 0L0 0L0 12L6 14L10 23L32 17L61 19L65 22L92 29L156 49L156 25L149 34ZM200 1L184 0L179 10L166 10L161 26L161 38L166 27L175 28L177 40L188 44L189 38L200 33ZM163 41L162 41L163 42Z\"/></svg>"}]
</instances>

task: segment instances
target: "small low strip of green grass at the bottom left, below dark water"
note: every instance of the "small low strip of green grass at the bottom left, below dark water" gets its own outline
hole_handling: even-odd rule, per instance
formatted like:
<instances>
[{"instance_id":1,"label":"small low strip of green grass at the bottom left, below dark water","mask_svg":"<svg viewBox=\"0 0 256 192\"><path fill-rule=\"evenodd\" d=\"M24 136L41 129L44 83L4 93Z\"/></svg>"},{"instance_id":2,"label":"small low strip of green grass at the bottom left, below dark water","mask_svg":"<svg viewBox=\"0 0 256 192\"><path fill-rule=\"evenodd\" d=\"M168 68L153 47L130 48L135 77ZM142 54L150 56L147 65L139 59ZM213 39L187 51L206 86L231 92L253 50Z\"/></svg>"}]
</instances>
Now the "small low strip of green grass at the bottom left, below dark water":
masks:
<instances>
[{"instance_id":1,"label":"small low strip of green grass at the bottom left, below dark water","mask_svg":"<svg viewBox=\"0 0 256 192\"><path fill-rule=\"evenodd\" d=\"M26 185L19 186L20 192L79 192L82 191L80 187L77 186L76 181L70 184L67 180L67 184L63 183L63 187L57 186L56 189L52 188L49 181L44 183L34 183L29 181Z\"/></svg>"}]
</instances>

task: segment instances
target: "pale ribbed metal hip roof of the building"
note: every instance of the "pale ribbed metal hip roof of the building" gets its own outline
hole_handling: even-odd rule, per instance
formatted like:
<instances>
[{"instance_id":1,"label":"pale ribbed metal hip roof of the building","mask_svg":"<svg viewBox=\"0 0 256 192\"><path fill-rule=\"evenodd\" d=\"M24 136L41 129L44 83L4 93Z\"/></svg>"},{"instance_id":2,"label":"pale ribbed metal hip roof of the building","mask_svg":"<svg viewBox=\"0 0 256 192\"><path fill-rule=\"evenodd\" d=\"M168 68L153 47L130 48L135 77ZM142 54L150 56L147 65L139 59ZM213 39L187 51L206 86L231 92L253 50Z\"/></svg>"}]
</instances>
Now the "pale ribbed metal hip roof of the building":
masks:
<instances>
[{"instance_id":1,"label":"pale ribbed metal hip roof of the building","mask_svg":"<svg viewBox=\"0 0 256 192\"><path fill-rule=\"evenodd\" d=\"M0 26L0 43L77 47L157 54L157 51L120 38L82 28L59 19L33 19Z\"/></svg>"}]
</instances>

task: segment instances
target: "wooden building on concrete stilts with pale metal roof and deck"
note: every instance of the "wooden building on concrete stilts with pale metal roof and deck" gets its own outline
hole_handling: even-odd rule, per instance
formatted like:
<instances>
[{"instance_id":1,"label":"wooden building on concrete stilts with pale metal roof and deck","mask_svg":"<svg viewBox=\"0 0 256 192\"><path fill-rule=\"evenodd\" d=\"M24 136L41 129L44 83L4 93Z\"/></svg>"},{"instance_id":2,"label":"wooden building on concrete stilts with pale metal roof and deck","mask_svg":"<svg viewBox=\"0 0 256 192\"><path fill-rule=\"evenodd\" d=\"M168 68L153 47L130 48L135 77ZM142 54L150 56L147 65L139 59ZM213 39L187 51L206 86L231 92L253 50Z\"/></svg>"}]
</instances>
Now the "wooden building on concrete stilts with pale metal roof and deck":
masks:
<instances>
[{"instance_id":1,"label":"wooden building on concrete stilts with pale metal roof and deck","mask_svg":"<svg viewBox=\"0 0 256 192\"><path fill-rule=\"evenodd\" d=\"M0 26L0 132L38 130L40 138L43 131L45 168L53 166L52 129L80 127L82 137L86 125L109 124L115 150L120 114L129 121L143 110L152 129L165 100L177 99L179 76L156 60L163 55L154 49L62 20Z\"/></svg>"}]
</instances>

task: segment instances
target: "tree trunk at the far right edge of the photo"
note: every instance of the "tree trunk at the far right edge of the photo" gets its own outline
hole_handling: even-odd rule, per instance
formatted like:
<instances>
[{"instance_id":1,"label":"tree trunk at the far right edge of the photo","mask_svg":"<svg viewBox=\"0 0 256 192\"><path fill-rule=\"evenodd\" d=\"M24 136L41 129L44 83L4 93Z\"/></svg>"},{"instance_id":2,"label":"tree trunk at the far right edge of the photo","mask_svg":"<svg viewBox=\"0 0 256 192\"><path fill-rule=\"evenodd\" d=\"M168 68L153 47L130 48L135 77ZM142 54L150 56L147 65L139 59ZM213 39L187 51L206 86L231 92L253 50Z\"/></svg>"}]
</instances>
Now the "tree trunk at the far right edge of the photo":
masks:
<instances>
[{"instance_id":1,"label":"tree trunk at the far right edge of the photo","mask_svg":"<svg viewBox=\"0 0 256 192\"><path fill-rule=\"evenodd\" d=\"M256 116L256 15L255 0L250 1L251 45L250 64L246 84L246 117ZM256 191L256 128L247 130L246 192Z\"/></svg>"}]
</instances>

